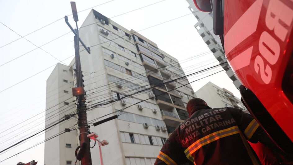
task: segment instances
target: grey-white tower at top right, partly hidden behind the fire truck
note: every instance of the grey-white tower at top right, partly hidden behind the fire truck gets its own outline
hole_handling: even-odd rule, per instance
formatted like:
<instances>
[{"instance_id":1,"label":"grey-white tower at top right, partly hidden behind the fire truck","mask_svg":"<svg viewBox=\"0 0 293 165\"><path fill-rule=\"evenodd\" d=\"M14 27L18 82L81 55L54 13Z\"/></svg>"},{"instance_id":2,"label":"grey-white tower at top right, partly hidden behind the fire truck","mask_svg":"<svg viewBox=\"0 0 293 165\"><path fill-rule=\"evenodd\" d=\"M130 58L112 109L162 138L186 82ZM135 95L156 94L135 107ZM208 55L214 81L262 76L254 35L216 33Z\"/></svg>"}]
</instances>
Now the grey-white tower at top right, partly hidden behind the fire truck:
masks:
<instances>
[{"instance_id":1,"label":"grey-white tower at top right, partly hidden behind the fire truck","mask_svg":"<svg viewBox=\"0 0 293 165\"><path fill-rule=\"evenodd\" d=\"M189 3L189 9L193 12L193 15L197 19L197 23L194 25L197 32L201 35L202 39L204 40L205 44L208 45L209 49L212 53L214 53L215 58L220 62L227 62L224 50L221 44L221 40L219 36L214 34L213 30L213 14L212 12L202 12L199 11L194 3L193 0L186 0ZM222 65L223 69L226 71L228 77L233 81L233 84L236 88L240 86L240 81L235 76L232 69L229 67L228 63Z\"/></svg>"}]
</instances>

